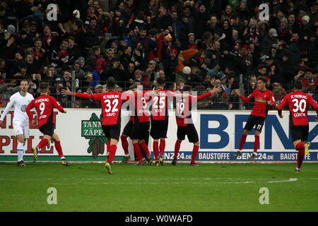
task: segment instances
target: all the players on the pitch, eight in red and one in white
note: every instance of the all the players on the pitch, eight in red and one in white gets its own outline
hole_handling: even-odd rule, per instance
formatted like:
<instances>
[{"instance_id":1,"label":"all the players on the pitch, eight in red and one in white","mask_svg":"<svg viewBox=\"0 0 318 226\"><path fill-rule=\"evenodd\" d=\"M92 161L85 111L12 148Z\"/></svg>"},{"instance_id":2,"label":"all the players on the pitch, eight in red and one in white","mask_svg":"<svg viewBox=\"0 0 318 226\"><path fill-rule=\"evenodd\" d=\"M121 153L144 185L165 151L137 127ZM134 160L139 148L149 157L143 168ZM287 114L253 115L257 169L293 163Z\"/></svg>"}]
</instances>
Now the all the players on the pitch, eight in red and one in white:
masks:
<instances>
[{"instance_id":1,"label":"all the players on the pitch, eight in red and one in white","mask_svg":"<svg viewBox=\"0 0 318 226\"><path fill-rule=\"evenodd\" d=\"M29 120L33 126L38 126L41 133L44 134L40 143L33 148L34 160L37 160L37 154L40 149L45 147L49 141L54 141L54 146L61 157L63 165L71 165L64 157L59 136L54 133L53 109L56 108L59 112L66 113L66 110L59 105L59 102L54 97L49 96L49 84L40 83L40 97L33 98L28 93L28 81L20 82L20 92L11 96L10 102L4 109L0 118L0 124L4 122L4 117L11 107L14 107L13 129L18 138L18 166L23 167L23 153L25 141L28 138ZM175 155L172 160L172 165L176 165L179 148L187 136L190 143L193 143L191 165L196 165L196 155L199 152L199 136L192 121L192 107L196 105L198 100L210 97L214 93L219 93L221 88L213 88L208 93L200 96L192 95L192 88L189 85L184 85L180 90L165 90L165 81L158 78L156 88L154 90L140 90L136 85L131 85L128 91L119 93L115 91L116 85L114 78L110 77L107 80L107 91L88 95L86 93L73 93L66 89L62 91L63 95L74 95L80 98L95 100L101 103L102 106L102 131L107 138L107 154L105 167L107 172L112 174L112 162L116 155L117 143L119 139L122 141L124 149L124 161L129 160L129 143L127 137L130 137L134 146L134 153L138 158L138 165L147 163L148 165L163 165L163 153L165 151L165 138L167 138L168 128L168 105L170 102L175 103L175 117L177 121L177 141L175 142ZM254 152L249 160L257 158L257 149L259 147L259 135L264 126L264 121L269 111L269 106L276 106L279 117L283 118L282 110L288 105L290 110L290 130L293 138L295 149L298 151L297 167L295 172L299 173L302 166L302 161L305 155L309 153L310 143L307 141L309 133L309 123L307 110L311 105L318 114L318 105L312 96L302 93L302 83L295 81L295 92L286 95L281 104L277 107L273 97L273 93L266 89L266 78L259 76L257 78L257 90L254 90L249 97L240 95L240 91L236 90L237 95L242 101L250 102L254 99L254 107L252 113L247 120L240 148L235 152L234 156L242 155L242 149L245 145L247 135L252 129L255 129ZM127 102L131 112L129 122L126 124L122 135L121 131L121 109L122 104ZM151 105L151 110L149 110ZM37 121L33 119L31 109L35 108L37 112ZM318 119L317 119L318 120ZM150 135L153 138L153 158L148 149L148 138ZM143 153L145 160L143 160Z\"/></svg>"}]
</instances>

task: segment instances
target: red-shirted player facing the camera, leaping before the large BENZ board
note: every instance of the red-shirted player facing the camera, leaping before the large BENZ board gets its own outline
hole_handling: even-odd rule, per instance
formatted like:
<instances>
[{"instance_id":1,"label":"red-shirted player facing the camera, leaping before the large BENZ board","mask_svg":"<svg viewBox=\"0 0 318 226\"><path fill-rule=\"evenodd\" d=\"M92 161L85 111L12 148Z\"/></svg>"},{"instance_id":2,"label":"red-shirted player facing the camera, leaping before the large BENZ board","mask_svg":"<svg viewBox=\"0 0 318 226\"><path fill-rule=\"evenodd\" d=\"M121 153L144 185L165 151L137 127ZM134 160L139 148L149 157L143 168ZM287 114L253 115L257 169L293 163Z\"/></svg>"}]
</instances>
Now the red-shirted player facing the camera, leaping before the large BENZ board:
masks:
<instances>
[{"instance_id":1,"label":"red-shirted player facing the camera, leaping before the large BENZ board","mask_svg":"<svg viewBox=\"0 0 318 226\"><path fill-rule=\"evenodd\" d=\"M242 138L240 141L240 147L235 157L242 155L242 149L246 142L247 135L255 126L255 142L254 142L254 152L249 160L254 160L257 157L257 148L259 148L259 135L261 134L261 129L264 126L265 119L269 112L269 106L275 106L275 99L273 93L266 89L266 78L264 76L259 76L257 78L257 90L254 90L248 97L240 95L240 90L235 90L235 93L246 103L249 103L252 98L254 98L254 107L252 113L247 120L245 125Z\"/></svg>"}]
</instances>

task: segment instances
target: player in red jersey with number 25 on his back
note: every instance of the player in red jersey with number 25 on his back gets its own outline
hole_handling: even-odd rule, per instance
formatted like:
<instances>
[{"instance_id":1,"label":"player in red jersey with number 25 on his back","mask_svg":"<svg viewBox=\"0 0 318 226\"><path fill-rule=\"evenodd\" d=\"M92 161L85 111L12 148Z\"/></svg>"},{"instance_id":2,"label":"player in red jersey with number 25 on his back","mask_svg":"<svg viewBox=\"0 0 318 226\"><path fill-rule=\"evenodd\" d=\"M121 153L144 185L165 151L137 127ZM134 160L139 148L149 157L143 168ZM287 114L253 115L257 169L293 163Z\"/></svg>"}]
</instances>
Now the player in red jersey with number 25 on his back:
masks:
<instances>
[{"instance_id":1,"label":"player in red jersey with number 25 on his back","mask_svg":"<svg viewBox=\"0 0 318 226\"><path fill-rule=\"evenodd\" d=\"M163 153L165 152L165 138L168 128L168 98L175 92L165 90L165 80L158 78L156 81L155 95L151 95L151 137L153 138L153 155L155 165L163 165ZM149 95L149 93L147 93ZM159 145L160 140L160 145Z\"/></svg>"}]
</instances>

